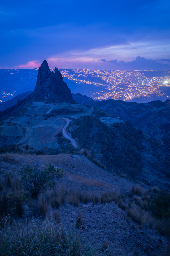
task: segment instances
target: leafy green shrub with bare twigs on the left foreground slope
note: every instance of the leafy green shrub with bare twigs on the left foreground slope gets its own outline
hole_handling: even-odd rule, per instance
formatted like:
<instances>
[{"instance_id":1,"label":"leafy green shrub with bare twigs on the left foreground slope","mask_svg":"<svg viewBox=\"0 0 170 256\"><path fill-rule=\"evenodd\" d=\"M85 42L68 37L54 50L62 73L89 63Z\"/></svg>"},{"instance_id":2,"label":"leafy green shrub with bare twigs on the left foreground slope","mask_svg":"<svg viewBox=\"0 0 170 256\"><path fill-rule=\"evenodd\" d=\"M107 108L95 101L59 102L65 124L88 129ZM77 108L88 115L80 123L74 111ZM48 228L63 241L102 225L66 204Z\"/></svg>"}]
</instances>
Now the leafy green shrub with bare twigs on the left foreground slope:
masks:
<instances>
[{"instance_id":1,"label":"leafy green shrub with bare twigs on the left foreground slope","mask_svg":"<svg viewBox=\"0 0 170 256\"><path fill-rule=\"evenodd\" d=\"M60 170L50 163L45 166L32 161L32 166L23 166L18 172L21 187L29 191L32 198L36 198L41 192L54 187L55 180L63 176Z\"/></svg>"}]
</instances>

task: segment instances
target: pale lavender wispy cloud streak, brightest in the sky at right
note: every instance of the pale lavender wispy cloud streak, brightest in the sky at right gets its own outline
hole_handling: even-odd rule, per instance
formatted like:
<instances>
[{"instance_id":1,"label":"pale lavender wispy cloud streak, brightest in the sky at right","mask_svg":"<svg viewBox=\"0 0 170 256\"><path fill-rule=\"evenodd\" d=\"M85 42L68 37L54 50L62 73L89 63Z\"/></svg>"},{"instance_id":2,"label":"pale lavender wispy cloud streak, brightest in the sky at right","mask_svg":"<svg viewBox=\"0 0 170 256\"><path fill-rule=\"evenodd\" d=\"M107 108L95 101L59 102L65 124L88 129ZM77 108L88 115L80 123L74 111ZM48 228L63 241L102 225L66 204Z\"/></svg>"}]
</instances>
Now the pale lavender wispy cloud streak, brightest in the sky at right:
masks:
<instances>
[{"instance_id":1,"label":"pale lavender wispy cloud streak, brightest in the sky at right","mask_svg":"<svg viewBox=\"0 0 170 256\"><path fill-rule=\"evenodd\" d=\"M164 46L166 46L166 51L160 51L162 49L162 42L160 41L138 41L138 42L128 42L121 45L110 45L107 47L91 48L88 50L71 50L61 55L63 58L91 58L92 60L98 60L104 64L105 61L101 60L115 60L129 62L134 60L134 56L147 56L147 59L165 59L169 56L170 45L169 41L164 41ZM104 56L104 58L103 58ZM105 62L106 63L106 62ZM109 62L110 64L112 62Z\"/></svg>"}]
</instances>

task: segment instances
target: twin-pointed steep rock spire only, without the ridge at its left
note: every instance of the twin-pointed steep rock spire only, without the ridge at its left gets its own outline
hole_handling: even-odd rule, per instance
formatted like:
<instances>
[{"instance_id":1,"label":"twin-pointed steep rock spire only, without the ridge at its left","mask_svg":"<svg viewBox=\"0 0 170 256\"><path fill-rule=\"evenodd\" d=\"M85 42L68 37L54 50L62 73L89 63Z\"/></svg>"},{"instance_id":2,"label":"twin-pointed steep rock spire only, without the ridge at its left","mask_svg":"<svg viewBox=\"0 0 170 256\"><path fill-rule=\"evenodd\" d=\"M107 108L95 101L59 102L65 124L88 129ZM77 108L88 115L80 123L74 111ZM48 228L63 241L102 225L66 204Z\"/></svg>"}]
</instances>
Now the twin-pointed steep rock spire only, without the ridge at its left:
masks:
<instances>
[{"instance_id":1,"label":"twin-pointed steep rock spire only, without the ridge at its left","mask_svg":"<svg viewBox=\"0 0 170 256\"><path fill-rule=\"evenodd\" d=\"M63 81L62 74L57 68L55 68L54 72L51 72L46 60L43 61L39 68L34 95L36 101L75 103L70 89Z\"/></svg>"}]
</instances>

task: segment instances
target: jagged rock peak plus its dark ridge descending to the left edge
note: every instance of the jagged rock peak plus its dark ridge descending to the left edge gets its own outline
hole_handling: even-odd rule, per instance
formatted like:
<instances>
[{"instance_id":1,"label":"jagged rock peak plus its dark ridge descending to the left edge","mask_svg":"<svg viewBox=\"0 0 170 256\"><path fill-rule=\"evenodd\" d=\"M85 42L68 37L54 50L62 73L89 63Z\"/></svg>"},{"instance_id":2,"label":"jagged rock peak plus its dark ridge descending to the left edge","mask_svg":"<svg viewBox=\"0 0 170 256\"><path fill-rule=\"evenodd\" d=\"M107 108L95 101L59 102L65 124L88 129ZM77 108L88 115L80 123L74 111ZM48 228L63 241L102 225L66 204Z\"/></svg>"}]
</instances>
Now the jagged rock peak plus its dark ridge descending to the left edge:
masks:
<instances>
[{"instance_id":1,"label":"jagged rock peak plus its dark ridge descending to the left edge","mask_svg":"<svg viewBox=\"0 0 170 256\"><path fill-rule=\"evenodd\" d=\"M39 68L34 91L23 100L17 100L16 105L2 112L0 111L0 119L30 104L31 101L45 101L48 103L66 102L75 104L70 89L63 81L62 74L57 68L55 68L54 72L51 72L46 60L43 61Z\"/></svg>"}]
</instances>

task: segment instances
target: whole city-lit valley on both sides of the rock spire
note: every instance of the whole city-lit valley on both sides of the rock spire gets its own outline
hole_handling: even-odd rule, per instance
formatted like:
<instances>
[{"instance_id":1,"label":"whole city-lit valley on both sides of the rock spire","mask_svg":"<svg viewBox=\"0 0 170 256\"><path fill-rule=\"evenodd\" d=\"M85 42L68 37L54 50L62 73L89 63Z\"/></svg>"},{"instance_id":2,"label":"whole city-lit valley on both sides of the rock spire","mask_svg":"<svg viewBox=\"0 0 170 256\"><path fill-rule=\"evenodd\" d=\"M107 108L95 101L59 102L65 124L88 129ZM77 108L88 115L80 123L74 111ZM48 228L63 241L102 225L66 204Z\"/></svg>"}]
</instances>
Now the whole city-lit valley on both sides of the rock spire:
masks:
<instances>
[{"instance_id":1,"label":"whole city-lit valley on both sides of the rock spire","mask_svg":"<svg viewBox=\"0 0 170 256\"><path fill-rule=\"evenodd\" d=\"M170 96L170 71L162 72L159 77L149 77L145 71L120 71L120 70L96 70L96 69L59 69L71 92L86 94L94 100L118 99L149 99L151 97ZM6 72L5 72L6 71ZM54 71L54 69L51 69ZM148 73L147 73L148 72ZM3 75L7 79L3 84ZM8 69L0 70L1 97L0 102L9 100L15 95L33 91L38 69ZM161 74L162 74L161 73ZM147 76L146 76L147 74ZM11 84L13 83L13 86ZM76 85L76 86L75 86ZM169 91L167 92L167 89ZM14 94L15 93L15 94ZM13 96L14 94L14 96Z\"/></svg>"}]
</instances>

